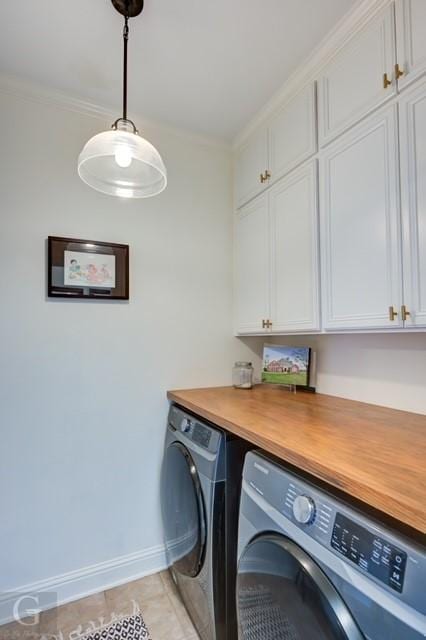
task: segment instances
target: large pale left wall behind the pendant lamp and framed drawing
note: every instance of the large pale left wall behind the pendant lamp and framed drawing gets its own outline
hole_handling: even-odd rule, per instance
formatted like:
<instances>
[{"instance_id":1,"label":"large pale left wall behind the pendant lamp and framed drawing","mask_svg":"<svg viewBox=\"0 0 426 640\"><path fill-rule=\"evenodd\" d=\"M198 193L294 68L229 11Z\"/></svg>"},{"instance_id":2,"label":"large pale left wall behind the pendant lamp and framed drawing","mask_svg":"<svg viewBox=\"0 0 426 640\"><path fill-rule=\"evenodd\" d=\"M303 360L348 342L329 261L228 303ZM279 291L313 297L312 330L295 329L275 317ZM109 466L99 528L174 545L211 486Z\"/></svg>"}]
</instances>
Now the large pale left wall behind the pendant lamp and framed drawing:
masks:
<instances>
[{"instance_id":1,"label":"large pale left wall behind the pendant lamp and framed drawing","mask_svg":"<svg viewBox=\"0 0 426 640\"><path fill-rule=\"evenodd\" d=\"M228 150L145 130L168 189L117 200L76 171L110 122L1 93L0 118L0 592L72 598L164 562L166 390L230 383L262 341L231 335ZM48 235L128 243L129 303L48 300Z\"/></svg>"}]
</instances>

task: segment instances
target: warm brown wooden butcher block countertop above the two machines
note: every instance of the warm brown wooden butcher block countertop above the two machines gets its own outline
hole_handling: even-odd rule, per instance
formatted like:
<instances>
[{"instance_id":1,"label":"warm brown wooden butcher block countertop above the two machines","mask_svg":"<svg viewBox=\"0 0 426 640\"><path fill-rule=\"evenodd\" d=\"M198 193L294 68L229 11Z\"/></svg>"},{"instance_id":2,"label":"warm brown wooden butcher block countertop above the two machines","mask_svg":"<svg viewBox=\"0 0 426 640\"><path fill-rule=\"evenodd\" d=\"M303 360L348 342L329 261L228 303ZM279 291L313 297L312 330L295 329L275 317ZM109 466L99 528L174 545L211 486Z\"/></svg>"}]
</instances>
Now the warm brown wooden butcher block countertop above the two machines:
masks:
<instances>
[{"instance_id":1,"label":"warm brown wooden butcher block countertop above the two machines","mask_svg":"<svg viewBox=\"0 0 426 640\"><path fill-rule=\"evenodd\" d=\"M168 398L426 533L426 416L267 385Z\"/></svg>"}]
</instances>

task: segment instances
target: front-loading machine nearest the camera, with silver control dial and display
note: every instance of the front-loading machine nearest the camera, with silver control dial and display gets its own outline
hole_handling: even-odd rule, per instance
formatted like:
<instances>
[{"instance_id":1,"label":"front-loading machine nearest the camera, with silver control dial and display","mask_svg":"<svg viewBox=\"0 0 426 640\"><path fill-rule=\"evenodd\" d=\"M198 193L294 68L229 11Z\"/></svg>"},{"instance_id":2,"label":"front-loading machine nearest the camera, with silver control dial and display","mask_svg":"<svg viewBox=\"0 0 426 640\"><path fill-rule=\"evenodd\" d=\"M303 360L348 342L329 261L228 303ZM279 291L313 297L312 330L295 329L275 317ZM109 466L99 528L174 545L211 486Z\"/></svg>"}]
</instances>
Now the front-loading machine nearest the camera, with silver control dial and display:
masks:
<instances>
[{"instance_id":1,"label":"front-loading machine nearest the camera, with silver control dial and display","mask_svg":"<svg viewBox=\"0 0 426 640\"><path fill-rule=\"evenodd\" d=\"M241 490L239 640L420 640L425 549L259 452Z\"/></svg>"}]
</instances>

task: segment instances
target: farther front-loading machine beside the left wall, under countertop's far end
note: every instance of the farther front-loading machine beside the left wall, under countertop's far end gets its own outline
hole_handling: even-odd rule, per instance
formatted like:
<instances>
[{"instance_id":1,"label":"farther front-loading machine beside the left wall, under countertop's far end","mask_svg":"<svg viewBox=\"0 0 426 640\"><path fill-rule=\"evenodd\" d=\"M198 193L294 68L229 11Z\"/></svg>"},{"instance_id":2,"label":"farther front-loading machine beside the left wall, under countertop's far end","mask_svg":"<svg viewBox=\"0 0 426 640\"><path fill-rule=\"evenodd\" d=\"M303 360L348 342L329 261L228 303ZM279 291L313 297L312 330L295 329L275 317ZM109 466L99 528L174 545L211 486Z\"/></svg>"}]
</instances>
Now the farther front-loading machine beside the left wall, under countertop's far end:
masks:
<instances>
[{"instance_id":1,"label":"farther front-loading machine beside the left wall, under countertop's far end","mask_svg":"<svg viewBox=\"0 0 426 640\"><path fill-rule=\"evenodd\" d=\"M237 637L238 504L248 445L177 405L161 480L172 578L201 640Z\"/></svg>"}]
</instances>

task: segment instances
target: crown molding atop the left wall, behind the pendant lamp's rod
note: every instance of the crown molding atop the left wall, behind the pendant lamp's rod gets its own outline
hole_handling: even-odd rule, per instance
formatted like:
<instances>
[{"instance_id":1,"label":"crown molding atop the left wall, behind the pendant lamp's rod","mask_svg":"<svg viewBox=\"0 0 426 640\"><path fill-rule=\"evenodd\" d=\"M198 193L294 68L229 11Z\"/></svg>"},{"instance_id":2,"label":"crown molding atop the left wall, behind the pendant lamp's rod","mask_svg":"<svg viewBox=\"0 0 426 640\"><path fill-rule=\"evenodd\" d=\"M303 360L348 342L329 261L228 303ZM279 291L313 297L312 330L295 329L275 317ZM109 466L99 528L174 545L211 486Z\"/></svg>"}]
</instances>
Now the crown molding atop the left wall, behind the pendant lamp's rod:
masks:
<instances>
[{"instance_id":1,"label":"crown molding atop the left wall, behind the pendant lamp's rod","mask_svg":"<svg viewBox=\"0 0 426 640\"><path fill-rule=\"evenodd\" d=\"M30 80L24 80L18 76L0 73L0 92L23 100L37 102L38 104L54 106L85 116L106 120L108 123L112 123L117 118L117 109L113 107L91 102L81 97L34 83ZM144 128L158 130L159 132L169 133L170 135L179 136L186 140L189 139L196 144L212 146L227 151L231 149L231 143L221 138L198 134L194 131L174 127L156 120L150 120L138 114L134 115L133 119L138 123L140 130Z\"/></svg>"}]
</instances>

